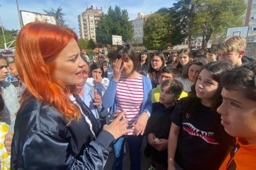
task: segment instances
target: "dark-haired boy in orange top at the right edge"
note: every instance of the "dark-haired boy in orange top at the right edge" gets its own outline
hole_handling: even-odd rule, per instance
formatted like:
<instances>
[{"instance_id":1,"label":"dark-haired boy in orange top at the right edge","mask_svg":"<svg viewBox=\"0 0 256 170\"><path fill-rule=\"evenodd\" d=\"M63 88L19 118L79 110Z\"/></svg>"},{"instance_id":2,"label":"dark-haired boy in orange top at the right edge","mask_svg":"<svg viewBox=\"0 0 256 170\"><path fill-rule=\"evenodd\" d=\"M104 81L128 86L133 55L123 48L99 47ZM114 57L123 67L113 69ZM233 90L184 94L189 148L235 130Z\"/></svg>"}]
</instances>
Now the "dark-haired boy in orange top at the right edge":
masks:
<instances>
[{"instance_id":1,"label":"dark-haired boy in orange top at the right edge","mask_svg":"<svg viewBox=\"0 0 256 170\"><path fill-rule=\"evenodd\" d=\"M218 108L225 131L236 138L220 169L256 169L256 62L228 71Z\"/></svg>"}]
</instances>

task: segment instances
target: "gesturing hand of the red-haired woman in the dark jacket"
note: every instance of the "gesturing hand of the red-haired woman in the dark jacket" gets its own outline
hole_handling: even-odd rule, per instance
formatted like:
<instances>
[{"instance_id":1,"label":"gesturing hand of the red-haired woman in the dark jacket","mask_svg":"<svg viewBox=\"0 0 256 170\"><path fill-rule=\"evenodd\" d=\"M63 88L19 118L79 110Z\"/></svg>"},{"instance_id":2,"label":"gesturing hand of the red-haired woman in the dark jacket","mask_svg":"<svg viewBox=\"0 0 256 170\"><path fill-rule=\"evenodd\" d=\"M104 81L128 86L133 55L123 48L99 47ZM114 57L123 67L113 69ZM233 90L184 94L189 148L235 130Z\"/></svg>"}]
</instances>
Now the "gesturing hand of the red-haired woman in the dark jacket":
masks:
<instances>
[{"instance_id":1,"label":"gesturing hand of the red-haired woman in the dark jacket","mask_svg":"<svg viewBox=\"0 0 256 170\"><path fill-rule=\"evenodd\" d=\"M118 113L118 110L116 110L114 114ZM114 139L117 139L131 131L130 129L126 129L126 127L128 127L128 121L123 118L125 113L125 111L122 111L111 124L105 124L103 126L103 129L111 133L114 136Z\"/></svg>"}]
</instances>

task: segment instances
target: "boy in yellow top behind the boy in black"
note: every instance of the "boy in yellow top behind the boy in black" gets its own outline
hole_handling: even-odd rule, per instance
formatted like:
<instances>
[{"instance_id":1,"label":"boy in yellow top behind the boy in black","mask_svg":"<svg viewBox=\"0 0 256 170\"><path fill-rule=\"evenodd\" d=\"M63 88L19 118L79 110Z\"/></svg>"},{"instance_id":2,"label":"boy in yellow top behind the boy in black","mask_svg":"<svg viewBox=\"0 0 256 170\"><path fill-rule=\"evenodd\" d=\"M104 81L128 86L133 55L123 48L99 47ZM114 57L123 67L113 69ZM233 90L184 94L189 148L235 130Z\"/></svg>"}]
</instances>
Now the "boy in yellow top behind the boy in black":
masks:
<instances>
[{"instance_id":1,"label":"boy in yellow top behind the boy in black","mask_svg":"<svg viewBox=\"0 0 256 170\"><path fill-rule=\"evenodd\" d=\"M152 103L159 102L160 92L161 92L161 84L166 79L177 79L179 77L179 73L176 68L168 65L161 70L161 75L159 79L159 85L152 89ZM187 97L187 92L182 91L179 99L182 97Z\"/></svg>"}]
</instances>

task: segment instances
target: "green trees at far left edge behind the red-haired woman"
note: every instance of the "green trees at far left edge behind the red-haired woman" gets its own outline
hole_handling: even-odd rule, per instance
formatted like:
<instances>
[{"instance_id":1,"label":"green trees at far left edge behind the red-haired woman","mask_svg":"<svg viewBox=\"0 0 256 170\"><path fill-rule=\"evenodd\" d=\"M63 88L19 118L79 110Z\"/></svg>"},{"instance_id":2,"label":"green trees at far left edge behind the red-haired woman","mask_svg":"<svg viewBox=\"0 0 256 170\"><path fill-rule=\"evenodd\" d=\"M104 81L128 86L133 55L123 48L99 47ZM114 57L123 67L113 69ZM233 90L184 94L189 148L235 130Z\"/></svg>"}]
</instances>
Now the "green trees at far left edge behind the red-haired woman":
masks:
<instances>
[{"instance_id":1,"label":"green trees at far left edge behind the red-haired woman","mask_svg":"<svg viewBox=\"0 0 256 170\"><path fill-rule=\"evenodd\" d=\"M0 49L4 49L4 37L6 38L6 43L11 42L16 39L18 30L6 30L4 28L4 36L2 34L2 27L0 26ZM9 48L14 47L15 43L13 43ZM9 46L9 44L7 44Z\"/></svg>"}]
</instances>

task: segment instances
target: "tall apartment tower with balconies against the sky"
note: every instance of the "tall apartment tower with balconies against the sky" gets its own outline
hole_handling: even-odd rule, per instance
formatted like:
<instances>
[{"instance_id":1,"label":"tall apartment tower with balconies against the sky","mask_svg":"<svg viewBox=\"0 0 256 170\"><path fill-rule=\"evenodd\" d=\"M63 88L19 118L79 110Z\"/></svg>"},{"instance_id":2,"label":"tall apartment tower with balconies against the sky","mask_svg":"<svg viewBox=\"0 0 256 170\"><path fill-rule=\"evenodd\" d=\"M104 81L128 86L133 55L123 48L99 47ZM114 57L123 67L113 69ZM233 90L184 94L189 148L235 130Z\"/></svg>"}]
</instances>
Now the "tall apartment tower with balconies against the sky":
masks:
<instances>
[{"instance_id":1,"label":"tall apartment tower with balconies against the sky","mask_svg":"<svg viewBox=\"0 0 256 170\"><path fill-rule=\"evenodd\" d=\"M78 15L80 38L92 38L93 41L96 41L95 31L98 20L100 20L102 13L102 7L100 9L98 9L98 7L96 7L96 9L93 9L93 6L91 6L87 7L85 12L82 12L82 14Z\"/></svg>"}]
</instances>

